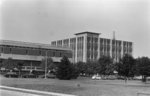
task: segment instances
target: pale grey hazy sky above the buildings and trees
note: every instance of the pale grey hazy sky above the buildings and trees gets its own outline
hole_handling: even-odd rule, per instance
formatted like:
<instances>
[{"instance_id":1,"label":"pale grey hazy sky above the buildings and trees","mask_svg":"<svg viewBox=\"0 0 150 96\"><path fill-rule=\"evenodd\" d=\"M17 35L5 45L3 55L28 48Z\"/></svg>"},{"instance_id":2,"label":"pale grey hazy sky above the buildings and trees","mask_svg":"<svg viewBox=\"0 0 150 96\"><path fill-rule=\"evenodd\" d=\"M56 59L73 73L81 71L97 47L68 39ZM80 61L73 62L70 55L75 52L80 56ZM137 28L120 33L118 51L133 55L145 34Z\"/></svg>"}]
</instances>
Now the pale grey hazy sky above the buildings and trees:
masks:
<instances>
[{"instance_id":1,"label":"pale grey hazy sky above the buildings and trees","mask_svg":"<svg viewBox=\"0 0 150 96\"><path fill-rule=\"evenodd\" d=\"M150 0L0 0L0 39L50 44L91 31L150 57Z\"/></svg>"}]
</instances>

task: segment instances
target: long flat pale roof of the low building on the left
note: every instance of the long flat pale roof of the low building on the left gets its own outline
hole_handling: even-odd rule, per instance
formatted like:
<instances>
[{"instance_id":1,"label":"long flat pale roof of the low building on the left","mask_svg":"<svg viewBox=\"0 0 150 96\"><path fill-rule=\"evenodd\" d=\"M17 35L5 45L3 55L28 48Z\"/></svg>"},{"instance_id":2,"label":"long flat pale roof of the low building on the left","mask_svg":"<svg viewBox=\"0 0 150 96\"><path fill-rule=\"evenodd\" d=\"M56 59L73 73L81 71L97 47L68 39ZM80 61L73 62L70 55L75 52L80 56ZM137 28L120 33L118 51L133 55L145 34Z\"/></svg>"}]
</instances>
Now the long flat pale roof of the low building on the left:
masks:
<instances>
[{"instance_id":1,"label":"long flat pale roof of the low building on the left","mask_svg":"<svg viewBox=\"0 0 150 96\"><path fill-rule=\"evenodd\" d=\"M56 49L56 50L71 50L70 48L55 47L55 46L51 46L50 44L31 43L31 42L13 41L13 40L0 40L0 45L11 45L11 46L43 48L43 49Z\"/></svg>"}]
</instances>

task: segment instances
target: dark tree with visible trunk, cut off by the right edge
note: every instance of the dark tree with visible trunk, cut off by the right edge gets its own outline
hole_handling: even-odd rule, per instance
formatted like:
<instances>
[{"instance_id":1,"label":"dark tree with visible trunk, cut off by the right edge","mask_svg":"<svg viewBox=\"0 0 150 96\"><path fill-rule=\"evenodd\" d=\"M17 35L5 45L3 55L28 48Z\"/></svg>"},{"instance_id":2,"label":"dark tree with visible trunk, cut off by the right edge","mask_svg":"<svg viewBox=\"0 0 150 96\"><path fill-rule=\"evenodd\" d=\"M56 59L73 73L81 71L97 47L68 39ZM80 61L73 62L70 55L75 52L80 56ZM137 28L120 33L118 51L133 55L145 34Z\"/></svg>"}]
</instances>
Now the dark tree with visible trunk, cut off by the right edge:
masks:
<instances>
[{"instance_id":1,"label":"dark tree with visible trunk, cut off by the right edge","mask_svg":"<svg viewBox=\"0 0 150 96\"><path fill-rule=\"evenodd\" d=\"M137 58L136 65L139 75L142 75L142 81L146 82L146 77L150 76L150 59L148 57Z\"/></svg>"}]
</instances>

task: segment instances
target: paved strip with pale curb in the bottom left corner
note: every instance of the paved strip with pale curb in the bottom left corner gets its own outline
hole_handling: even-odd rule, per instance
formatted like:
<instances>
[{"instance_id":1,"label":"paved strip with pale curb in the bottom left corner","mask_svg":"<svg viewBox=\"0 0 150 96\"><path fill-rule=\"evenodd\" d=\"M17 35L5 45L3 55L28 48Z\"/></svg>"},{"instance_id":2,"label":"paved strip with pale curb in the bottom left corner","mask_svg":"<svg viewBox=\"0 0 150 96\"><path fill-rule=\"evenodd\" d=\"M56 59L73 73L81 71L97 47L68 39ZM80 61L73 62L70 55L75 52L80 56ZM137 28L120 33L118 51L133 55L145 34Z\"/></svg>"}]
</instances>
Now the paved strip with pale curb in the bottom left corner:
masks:
<instances>
[{"instance_id":1,"label":"paved strip with pale curb in the bottom left corner","mask_svg":"<svg viewBox=\"0 0 150 96\"><path fill-rule=\"evenodd\" d=\"M29 89L8 87L8 86L0 86L0 95L1 96L75 96L69 94L29 90Z\"/></svg>"}]
</instances>

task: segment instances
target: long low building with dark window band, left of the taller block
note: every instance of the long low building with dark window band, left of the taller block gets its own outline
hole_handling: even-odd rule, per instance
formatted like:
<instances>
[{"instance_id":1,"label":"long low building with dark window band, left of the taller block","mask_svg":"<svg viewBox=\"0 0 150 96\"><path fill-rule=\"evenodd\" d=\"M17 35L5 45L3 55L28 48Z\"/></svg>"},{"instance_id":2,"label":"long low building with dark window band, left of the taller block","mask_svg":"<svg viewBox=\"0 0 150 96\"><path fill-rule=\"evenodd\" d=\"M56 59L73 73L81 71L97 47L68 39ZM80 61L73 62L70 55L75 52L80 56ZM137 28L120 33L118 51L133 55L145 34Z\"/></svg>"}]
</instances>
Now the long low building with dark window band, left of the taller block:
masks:
<instances>
[{"instance_id":1,"label":"long low building with dark window band, left of the taller block","mask_svg":"<svg viewBox=\"0 0 150 96\"><path fill-rule=\"evenodd\" d=\"M59 63L63 56L72 62L72 50L63 47L52 47L49 44L0 40L0 63L11 58L13 64L23 61L22 70L40 70L42 59L51 57Z\"/></svg>"}]
</instances>

